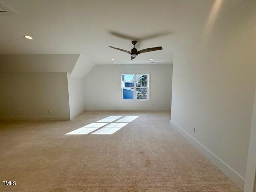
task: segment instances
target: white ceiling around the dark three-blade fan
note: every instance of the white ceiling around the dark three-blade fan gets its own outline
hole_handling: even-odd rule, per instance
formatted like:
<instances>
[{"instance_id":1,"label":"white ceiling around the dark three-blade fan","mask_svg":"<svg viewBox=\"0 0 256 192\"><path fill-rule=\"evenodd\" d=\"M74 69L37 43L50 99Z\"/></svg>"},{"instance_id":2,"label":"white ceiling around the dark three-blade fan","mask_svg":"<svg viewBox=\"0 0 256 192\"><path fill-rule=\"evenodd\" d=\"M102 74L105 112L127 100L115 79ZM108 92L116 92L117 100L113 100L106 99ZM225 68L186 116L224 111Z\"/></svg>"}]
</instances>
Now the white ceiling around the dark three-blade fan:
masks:
<instances>
[{"instance_id":1,"label":"white ceiling around the dark three-blade fan","mask_svg":"<svg viewBox=\"0 0 256 192\"><path fill-rule=\"evenodd\" d=\"M223 0L221 18L243 0ZM172 63L181 40L200 36L215 0L0 0L17 14L0 15L0 54L80 54L72 72L83 77L95 64ZM0 6L1 7L1 6ZM5 9L6 9L5 8ZM131 40L143 39L138 50L163 50L130 55ZM34 39L27 40L24 35ZM115 60L110 60L114 58ZM0 59L0 64L4 63ZM73 65L73 64L72 64Z\"/></svg>"}]
</instances>

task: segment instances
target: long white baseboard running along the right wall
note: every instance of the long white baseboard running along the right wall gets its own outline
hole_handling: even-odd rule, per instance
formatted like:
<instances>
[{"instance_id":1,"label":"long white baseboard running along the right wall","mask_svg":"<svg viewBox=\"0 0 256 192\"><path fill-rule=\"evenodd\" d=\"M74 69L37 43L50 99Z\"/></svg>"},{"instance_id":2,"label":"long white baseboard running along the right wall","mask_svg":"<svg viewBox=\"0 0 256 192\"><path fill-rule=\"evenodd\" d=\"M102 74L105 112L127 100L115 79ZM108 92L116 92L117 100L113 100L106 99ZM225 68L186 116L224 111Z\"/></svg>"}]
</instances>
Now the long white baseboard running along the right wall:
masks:
<instances>
[{"instance_id":1,"label":"long white baseboard running along the right wall","mask_svg":"<svg viewBox=\"0 0 256 192\"><path fill-rule=\"evenodd\" d=\"M220 158L214 155L210 150L204 147L198 140L193 138L180 126L170 120L171 125L178 130L193 146L195 146L206 158L208 158L217 168L219 168L232 182L234 182L240 189L244 189L245 179L240 176L235 170L223 162Z\"/></svg>"}]
</instances>

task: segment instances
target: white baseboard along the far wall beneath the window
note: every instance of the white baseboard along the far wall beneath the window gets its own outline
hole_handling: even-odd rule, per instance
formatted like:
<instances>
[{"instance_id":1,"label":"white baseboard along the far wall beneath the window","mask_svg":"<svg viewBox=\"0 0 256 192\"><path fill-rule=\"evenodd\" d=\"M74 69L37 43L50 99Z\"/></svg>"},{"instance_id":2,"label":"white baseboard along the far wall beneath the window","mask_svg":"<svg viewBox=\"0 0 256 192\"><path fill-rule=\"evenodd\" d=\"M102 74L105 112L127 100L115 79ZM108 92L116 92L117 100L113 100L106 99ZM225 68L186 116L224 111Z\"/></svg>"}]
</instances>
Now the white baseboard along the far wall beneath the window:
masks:
<instances>
[{"instance_id":1,"label":"white baseboard along the far wall beneath the window","mask_svg":"<svg viewBox=\"0 0 256 192\"><path fill-rule=\"evenodd\" d=\"M85 108L85 111L170 111L170 108Z\"/></svg>"}]
</instances>

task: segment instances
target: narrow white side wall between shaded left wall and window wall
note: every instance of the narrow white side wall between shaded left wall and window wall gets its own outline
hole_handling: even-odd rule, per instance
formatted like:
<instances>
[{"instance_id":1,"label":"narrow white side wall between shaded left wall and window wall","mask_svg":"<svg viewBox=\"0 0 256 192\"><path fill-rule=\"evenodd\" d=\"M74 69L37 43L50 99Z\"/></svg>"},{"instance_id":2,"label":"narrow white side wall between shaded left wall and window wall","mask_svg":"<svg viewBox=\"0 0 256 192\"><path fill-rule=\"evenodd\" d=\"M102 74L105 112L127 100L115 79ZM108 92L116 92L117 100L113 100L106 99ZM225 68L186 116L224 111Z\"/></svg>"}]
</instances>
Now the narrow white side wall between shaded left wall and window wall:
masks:
<instances>
[{"instance_id":1,"label":"narrow white side wall between shaded left wall and window wall","mask_svg":"<svg viewBox=\"0 0 256 192\"><path fill-rule=\"evenodd\" d=\"M68 74L68 94L70 119L84 112L84 81L80 78L70 78Z\"/></svg>"}]
</instances>

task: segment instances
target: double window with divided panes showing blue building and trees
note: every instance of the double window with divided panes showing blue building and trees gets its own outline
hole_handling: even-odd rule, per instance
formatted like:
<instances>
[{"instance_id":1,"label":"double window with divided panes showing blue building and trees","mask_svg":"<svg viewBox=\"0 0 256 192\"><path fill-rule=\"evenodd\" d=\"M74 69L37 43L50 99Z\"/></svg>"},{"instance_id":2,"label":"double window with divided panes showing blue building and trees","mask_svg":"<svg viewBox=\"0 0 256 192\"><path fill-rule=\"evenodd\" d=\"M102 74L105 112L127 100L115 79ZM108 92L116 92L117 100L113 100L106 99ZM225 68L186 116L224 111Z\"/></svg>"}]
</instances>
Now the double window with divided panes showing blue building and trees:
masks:
<instances>
[{"instance_id":1,"label":"double window with divided panes showing blue building and trees","mask_svg":"<svg viewBox=\"0 0 256 192\"><path fill-rule=\"evenodd\" d=\"M122 100L149 100L149 74L122 74Z\"/></svg>"}]
</instances>

